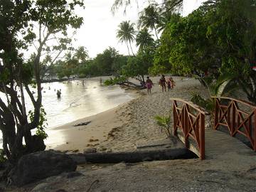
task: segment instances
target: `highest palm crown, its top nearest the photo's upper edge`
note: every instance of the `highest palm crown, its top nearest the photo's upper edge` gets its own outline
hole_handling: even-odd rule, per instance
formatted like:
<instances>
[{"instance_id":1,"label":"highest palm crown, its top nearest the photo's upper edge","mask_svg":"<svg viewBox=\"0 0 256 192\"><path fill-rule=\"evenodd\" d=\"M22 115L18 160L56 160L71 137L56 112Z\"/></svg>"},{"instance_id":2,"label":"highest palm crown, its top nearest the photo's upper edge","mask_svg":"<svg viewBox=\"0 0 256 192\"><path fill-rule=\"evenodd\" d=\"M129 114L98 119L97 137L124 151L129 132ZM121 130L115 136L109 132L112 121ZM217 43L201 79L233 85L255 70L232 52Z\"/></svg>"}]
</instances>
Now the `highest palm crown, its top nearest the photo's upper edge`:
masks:
<instances>
[{"instance_id":1,"label":"highest palm crown, its top nearest the photo's upper edge","mask_svg":"<svg viewBox=\"0 0 256 192\"><path fill-rule=\"evenodd\" d=\"M154 29L156 33L156 38L157 36L157 26L161 22L161 17L159 14L160 9L156 5L149 5L147 6L142 13L140 13L139 16L139 22L138 26L139 28L150 28L151 30Z\"/></svg>"}]
</instances>

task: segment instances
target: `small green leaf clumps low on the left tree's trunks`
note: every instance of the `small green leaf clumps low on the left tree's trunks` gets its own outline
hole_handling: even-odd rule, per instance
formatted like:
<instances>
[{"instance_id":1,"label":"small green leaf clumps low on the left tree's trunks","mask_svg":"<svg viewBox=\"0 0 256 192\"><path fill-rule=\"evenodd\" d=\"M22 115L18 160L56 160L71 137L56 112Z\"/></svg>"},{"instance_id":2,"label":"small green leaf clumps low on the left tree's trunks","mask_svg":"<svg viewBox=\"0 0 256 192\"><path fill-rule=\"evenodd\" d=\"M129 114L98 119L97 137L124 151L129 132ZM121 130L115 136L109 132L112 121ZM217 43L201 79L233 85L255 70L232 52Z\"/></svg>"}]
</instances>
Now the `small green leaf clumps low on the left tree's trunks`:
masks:
<instances>
[{"instance_id":1,"label":"small green leaf clumps low on the left tree's trunks","mask_svg":"<svg viewBox=\"0 0 256 192\"><path fill-rule=\"evenodd\" d=\"M33 122L34 119L34 112L29 111L28 112L28 118L31 122ZM46 119L46 111L41 107L40 117L39 117L39 123L38 127L36 127L36 135L41 137L42 139L46 139L48 137L48 134L46 134L46 126L48 125L47 119Z\"/></svg>"}]
</instances>

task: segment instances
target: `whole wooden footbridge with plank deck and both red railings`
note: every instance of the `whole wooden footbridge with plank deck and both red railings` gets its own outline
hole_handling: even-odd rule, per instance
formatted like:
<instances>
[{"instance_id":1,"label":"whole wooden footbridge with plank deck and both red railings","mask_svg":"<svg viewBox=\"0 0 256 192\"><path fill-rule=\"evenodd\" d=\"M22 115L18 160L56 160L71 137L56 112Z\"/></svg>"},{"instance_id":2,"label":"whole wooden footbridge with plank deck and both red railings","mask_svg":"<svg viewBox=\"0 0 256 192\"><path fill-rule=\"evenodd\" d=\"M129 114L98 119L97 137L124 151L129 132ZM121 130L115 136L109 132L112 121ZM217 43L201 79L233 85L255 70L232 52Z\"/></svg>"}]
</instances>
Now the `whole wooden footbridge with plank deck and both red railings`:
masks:
<instances>
[{"instance_id":1,"label":"whole wooden footbridge with plank deck and both red railings","mask_svg":"<svg viewBox=\"0 0 256 192\"><path fill-rule=\"evenodd\" d=\"M212 99L214 115L207 114L192 102L171 98L174 135L201 159L213 159L229 151L256 151L256 106L229 97ZM210 117L214 117L213 127Z\"/></svg>"}]
</instances>

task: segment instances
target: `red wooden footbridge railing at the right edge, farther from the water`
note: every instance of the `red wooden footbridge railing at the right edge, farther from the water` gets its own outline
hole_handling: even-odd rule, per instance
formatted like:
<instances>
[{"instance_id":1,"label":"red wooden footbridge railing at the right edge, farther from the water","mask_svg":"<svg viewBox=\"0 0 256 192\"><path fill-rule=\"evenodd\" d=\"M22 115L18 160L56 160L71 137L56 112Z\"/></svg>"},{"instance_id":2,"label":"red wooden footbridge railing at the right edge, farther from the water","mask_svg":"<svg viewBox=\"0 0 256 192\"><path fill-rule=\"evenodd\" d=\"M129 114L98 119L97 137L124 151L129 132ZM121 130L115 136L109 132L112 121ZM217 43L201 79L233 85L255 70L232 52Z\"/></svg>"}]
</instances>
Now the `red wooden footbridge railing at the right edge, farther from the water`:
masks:
<instances>
[{"instance_id":1,"label":"red wooden footbridge railing at the right edge, farther from the water","mask_svg":"<svg viewBox=\"0 0 256 192\"><path fill-rule=\"evenodd\" d=\"M228 128L232 137L235 134L242 134L256 151L256 106L229 97L212 98L215 99L214 129L223 125ZM228 104L223 104L223 101Z\"/></svg>"}]
</instances>

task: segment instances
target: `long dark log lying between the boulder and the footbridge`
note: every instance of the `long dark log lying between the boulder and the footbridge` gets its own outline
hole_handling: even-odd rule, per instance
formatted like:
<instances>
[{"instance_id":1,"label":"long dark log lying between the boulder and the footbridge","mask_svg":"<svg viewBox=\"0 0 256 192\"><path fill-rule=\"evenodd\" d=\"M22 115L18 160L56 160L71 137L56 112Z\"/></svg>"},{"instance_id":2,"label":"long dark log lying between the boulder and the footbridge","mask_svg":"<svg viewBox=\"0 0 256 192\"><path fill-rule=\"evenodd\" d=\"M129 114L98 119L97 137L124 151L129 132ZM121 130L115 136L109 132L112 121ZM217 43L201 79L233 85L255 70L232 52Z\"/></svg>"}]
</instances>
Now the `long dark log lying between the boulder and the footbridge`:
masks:
<instances>
[{"instance_id":1,"label":"long dark log lying between the boulder and the footbridge","mask_svg":"<svg viewBox=\"0 0 256 192\"><path fill-rule=\"evenodd\" d=\"M119 162L136 163L141 161L191 159L195 154L188 149L164 149L154 151L134 151L116 153L68 154L77 164L116 164Z\"/></svg>"}]
</instances>

